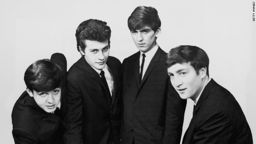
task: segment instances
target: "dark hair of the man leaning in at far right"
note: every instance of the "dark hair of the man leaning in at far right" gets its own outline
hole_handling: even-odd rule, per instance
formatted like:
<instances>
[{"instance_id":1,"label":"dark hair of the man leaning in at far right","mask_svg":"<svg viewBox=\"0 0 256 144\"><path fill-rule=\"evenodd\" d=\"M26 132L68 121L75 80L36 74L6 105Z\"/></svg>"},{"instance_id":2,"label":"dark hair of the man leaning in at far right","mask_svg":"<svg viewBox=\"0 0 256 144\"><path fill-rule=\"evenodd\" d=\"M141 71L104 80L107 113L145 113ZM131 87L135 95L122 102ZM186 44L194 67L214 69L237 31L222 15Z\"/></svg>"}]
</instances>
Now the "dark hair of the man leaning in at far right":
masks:
<instances>
[{"instance_id":1,"label":"dark hair of the man leaning in at far right","mask_svg":"<svg viewBox=\"0 0 256 144\"><path fill-rule=\"evenodd\" d=\"M165 66L169 68L177 63L188 62L195 69L196 74L199 74L200 68L206 68L206 74L209 76L209 58L206 52L197 46L177 46L172 48L166 55Z\"/></svg>"}]
</instances>

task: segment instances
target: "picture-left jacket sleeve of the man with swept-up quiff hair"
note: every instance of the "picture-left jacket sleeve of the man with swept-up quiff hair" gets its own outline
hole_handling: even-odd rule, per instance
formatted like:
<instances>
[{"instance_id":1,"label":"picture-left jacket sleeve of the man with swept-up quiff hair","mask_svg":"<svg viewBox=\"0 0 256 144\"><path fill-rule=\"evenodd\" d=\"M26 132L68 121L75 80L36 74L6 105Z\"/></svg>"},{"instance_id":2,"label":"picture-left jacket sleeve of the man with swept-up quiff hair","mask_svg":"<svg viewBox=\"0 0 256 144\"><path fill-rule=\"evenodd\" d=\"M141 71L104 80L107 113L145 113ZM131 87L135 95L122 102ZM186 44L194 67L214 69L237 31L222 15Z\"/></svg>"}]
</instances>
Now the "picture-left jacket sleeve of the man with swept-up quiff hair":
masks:
<instances>
[{"instance_id":1,"label":"picture-left jacket sleeve of the man with swept-up quiff hair","mask_svg":"<svg viewBox=\"0 0 256 144\"><path fill-rule=\"evenodd\" d=\"M74 79L67 77L66 113L63 119L64 143L82 144L82 94ZM63 106L63 105L62 105Z\"/></svg>"}]
</instances>

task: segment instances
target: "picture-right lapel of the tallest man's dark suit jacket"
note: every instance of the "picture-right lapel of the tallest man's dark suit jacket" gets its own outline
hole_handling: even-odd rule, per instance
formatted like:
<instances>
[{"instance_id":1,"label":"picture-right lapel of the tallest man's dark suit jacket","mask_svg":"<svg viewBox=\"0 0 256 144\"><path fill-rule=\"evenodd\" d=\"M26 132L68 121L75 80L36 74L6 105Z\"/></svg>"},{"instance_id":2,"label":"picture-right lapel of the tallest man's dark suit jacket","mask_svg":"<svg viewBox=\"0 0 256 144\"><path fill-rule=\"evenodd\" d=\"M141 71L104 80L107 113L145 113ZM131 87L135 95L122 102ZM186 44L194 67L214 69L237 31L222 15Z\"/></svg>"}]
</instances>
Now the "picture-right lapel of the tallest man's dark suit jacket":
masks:
<instances>
[{"instance_id":1,"label":"picture-right lapel of the tallest man's dark suit jacket","mask_svg":"<svg viewBox=\"0 0 256 144\"><path fill-rule=\"evenodd\" d=\"M150 61L148 68L142 78L142 81L140 83L140 87L142 86L142 84L145 82L145 80L148 78L149 74L152 72L152 70L154 69L154 67L156 66L155 62L158 62L159 58L161 55L161 51L160 51L160 47L158 46L158 49L156 51L156 54L153 56L152 60Z\"/></svg>"}]
</instances>

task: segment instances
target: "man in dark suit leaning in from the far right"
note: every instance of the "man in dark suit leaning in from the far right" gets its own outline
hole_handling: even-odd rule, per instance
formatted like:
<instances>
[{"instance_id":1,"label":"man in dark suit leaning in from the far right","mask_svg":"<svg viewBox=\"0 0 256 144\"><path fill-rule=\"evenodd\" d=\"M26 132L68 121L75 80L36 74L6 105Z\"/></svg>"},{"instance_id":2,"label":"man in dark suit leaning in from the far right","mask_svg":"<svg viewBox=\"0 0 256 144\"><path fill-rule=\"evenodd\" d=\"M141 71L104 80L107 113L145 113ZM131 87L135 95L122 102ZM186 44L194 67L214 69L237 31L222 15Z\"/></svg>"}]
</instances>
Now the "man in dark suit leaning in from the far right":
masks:
<instances>
[{"instance_id":1,"label":"man in dark suit leaning in from the far right","mask_svg":"<svg viewBox=\"0 0 256 144\"><path fill-rule=\"evenodd\" d=\"M182 144L252 144L252 133L234 96L209 79L209 58L196 46L172 48L165 62L173 87L194 101Z\"/></svg>"}]
</instances>

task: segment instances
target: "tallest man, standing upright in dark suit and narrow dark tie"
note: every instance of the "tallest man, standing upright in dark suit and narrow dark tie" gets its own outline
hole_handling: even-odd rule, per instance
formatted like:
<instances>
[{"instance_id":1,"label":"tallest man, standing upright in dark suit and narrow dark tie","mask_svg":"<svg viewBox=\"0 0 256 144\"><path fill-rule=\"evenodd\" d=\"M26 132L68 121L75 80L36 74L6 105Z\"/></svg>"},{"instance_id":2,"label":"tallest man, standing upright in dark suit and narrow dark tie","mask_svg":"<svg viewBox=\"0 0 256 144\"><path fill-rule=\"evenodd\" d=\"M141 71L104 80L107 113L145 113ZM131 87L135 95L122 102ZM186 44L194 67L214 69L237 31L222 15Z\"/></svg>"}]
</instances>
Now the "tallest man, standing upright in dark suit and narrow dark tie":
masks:
<instances>
[{"instance_id":1,"label":"tallest man, standing upright in dark suit and narrow dark tie","mask_svg":"<svg viewBox=\"0 0 256 144\"><path fill-rule=\"evenodd\" d=\"M179 144L186 100L170 84L164 52L156 43L161 21L155 8L138 6L128 18L138 52L123 61L122 144Z\"/></svg>"}]
</instances>

